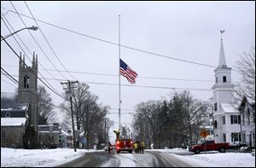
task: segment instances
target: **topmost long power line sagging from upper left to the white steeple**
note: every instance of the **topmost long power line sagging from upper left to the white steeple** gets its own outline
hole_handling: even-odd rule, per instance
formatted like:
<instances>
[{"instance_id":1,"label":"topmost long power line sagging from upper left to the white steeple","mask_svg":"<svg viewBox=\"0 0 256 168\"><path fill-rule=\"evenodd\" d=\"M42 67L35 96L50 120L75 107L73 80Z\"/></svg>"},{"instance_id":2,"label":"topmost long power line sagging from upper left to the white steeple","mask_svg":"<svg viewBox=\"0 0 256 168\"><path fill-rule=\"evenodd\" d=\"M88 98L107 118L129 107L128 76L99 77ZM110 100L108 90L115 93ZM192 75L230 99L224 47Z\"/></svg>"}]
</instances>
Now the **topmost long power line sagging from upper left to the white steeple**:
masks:
<instances>
[{"instance_id":1,"label":"topmost long power line sagging from upper left to the white steeple","mask_svg":"<svg viewBox=\"0 0 256 168\"><path fill-rule=\"evenodd\" d=\"M3 9L5 9L5 8L3 8ZM13 13L15 13L15 14L20 14L20 13L18 13L18 12L15 12L15 11L13 11L13 10L10 10L10 9L6 9L6 10L9 10L10 12L13 12ZM32 20L38 20L38 19L31 18L30 16L27 16L26 14L20 14L20 15L22 15L22 16L24 16L24 17L26 17L26 18L32 19ZM110 44L117 45L117 46L119 45L119 43L113 43L113 42L110 42L110 41L108 41L108 40L104 40L104 39L102 39L102 38L95 38L95 37L92 37L92 36L83 34L83 33L81 33L81 32L75 32L75 31L73 31L73 30L70 30L70 29L67 29L67 28L64 28L64 27L61 27L61 26L55 26L54 24L51 24L51 23L46 22L46 21L43 21L43 20L38 20L38 21L40 21L40 22L42 22L42 23L44 23L44 24L46 24L46 25L49 25L49 26L54 26L54 27L56 27L56 28L60 28L60 29L62 29L62 30L64 30L64 31L67 31L67 32L73 32L73 33L75 33L75 34L78 34L78 35L80 35L80 36L84 36L84 37L86 37L86 38L92 38L92 39L95 39L95 40L98 40L98 41L102 41L102 42L104 42L104 43L110 43ZM195 62L195 61L186 61L186 60L183 60L183 59L175 58L175 57L173 57L173 56L160 55L160 54L157 54L157 53L154 53L154 52L151 52L151 51L147 51L147 50L144 50L144 49L137 49L137 48L129 47L129 46L122 45L122 44L120 44L120 47L123 47L123 48L126 48L126 49L137 50L137 51L139 51L139 52L143 52L143 53L146 53L146 54L148 54L148 55L156 55L156 56L160 56L160 57L164 57L164 58L172 59L172 60L176 60L176 61L183 61L183 62L195 64L195 65L217 68L216 66L212 66L212 65L208 65L208 64L204 64L204 63L199 63L199 62ZM234 70L234 69L232 69L232 71L239 72L239 71Z\"/></svg>"}]
</instances>

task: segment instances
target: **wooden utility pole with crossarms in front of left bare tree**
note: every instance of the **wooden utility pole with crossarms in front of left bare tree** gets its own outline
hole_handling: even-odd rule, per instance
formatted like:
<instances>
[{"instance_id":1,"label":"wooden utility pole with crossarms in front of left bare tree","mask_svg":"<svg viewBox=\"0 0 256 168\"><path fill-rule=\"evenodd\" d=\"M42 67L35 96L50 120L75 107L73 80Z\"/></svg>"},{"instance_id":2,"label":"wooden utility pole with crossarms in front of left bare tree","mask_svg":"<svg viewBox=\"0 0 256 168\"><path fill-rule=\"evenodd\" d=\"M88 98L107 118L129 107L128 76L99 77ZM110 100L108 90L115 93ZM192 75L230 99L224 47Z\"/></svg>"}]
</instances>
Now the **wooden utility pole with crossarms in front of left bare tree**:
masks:
<instances>
[{"instance_id":1,"label":"wooden utility pole with crossarms in front of left bare tree","mask_svg":"<svg viewBox=\"0 0 256 168\"><path fill-rule=\"evenodd\" d=\"M75 88L75 87L71 87L71 84L75 84L75 83L79 83L79 81L73 81L71 82L70 80L67 80L67 82L61 82L61 84L68 84L68 88L64 88L64 90L69 90L69 100L70 100L70 106L71 106L71 119L72 119L72 127L73 127L73 148L74 148L74 152L77 152L77 148L76 148L76 135L75 135L75 131L74 131L74 123L73 123L73 101L72 101L72 90L71 88Z\"/></svg>"}]
</instances>

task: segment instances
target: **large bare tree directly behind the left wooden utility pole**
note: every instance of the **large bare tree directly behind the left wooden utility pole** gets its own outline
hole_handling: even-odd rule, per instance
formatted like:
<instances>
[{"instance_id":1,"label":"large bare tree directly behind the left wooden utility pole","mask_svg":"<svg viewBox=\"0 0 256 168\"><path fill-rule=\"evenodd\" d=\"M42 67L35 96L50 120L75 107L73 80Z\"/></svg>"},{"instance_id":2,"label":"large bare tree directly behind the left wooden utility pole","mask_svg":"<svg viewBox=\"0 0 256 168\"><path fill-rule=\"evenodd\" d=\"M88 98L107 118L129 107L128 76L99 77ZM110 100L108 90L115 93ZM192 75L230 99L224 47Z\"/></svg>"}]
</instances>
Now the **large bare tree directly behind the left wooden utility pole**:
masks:
<instances>
[{"instance_id":1,"label":"large bare tree directly behind the left wooden utility pole","mask_svg":"<svg viewBox=\"0 0 256 168\"><path fill-rule=\"evenodd\" d=\"M76 118L76 130L79 134L84 132L87 148L91 148L93 143L104 141L104 119L110 109L110 107L97 104L96 101L99 97L90 93L89 89L88 84L80 83L73 89L73 113ZM61 125L67 126L70 124L71 117L70 102L61 103L61 107L63 107L62 112L66 113ZM81 139L79 135L77 136L79 144Z\"/></svg>"}]
</instances>

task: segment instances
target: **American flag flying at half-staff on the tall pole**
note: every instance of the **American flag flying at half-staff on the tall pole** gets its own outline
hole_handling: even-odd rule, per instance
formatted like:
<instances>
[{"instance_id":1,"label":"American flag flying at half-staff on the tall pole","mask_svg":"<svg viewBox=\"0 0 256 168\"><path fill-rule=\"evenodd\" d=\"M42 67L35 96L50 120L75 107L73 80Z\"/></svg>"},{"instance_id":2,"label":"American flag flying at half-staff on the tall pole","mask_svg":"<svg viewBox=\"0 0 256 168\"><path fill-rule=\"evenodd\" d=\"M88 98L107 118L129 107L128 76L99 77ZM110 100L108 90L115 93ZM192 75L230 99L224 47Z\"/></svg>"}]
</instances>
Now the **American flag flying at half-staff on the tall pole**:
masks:
<instances>
[{"instance_id":1,"label":"American flag flying at half-staff on the tall pole","mask_svg":"<svg viewBox=\"0 0 256 168\"><path fill-rule=\"evenodd\" d=\"M127 78L131 84L135 84L137 72L133 71L124 61L120 59L120 74Z\"/></svg>"}]
</instances>

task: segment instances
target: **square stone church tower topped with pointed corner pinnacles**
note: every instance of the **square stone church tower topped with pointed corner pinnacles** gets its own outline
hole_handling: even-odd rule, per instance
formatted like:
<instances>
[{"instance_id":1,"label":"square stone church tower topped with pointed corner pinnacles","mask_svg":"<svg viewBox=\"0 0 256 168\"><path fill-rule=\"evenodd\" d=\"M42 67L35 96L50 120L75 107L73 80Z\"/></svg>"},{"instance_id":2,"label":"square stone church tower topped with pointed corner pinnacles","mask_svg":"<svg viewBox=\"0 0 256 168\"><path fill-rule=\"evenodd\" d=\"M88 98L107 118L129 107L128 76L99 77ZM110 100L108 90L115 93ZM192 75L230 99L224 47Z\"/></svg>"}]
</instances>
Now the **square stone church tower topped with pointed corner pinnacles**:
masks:
<instances>
[{"instance_id":1,"label":"square stone church tower topped with pointed corner pinnacles","mask_svg":"<svg viewBox=\"0 0 256 168\"><path fill-rule=\"evenodd\" d=\"M33 53L32 67L26 67L25 56L23 61L19 62L19 88L18 88L18 102L29 103L28 109L28 125L37 128L38 125L38 55Z\"/></svg>"}]
</instances>

